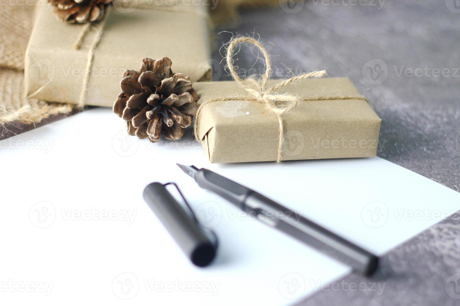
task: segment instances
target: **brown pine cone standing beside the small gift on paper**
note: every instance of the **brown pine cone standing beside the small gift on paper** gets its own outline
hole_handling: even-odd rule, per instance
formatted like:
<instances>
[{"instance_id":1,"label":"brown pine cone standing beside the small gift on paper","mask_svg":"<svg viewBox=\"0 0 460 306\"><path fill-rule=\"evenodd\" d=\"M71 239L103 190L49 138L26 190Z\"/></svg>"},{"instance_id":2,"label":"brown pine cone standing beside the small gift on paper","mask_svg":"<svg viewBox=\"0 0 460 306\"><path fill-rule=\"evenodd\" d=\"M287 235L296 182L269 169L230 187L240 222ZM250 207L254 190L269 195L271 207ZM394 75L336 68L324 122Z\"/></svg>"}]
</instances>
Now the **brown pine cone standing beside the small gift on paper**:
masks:
<instances>
[{"instance_id":1,"label":"brown pine cone standing beside the small gift on paper","mask_svg":"<svg viewBox=\"0 0 460 306\"><path fill-rule=\"evenodd\" d=\"M140 72L127 70L113 111L126 120L128 134L150 141L177 140L195 116L198 95L190 78L171 71L171 60L144 58Z\"/></svg>"}]
</instances>

